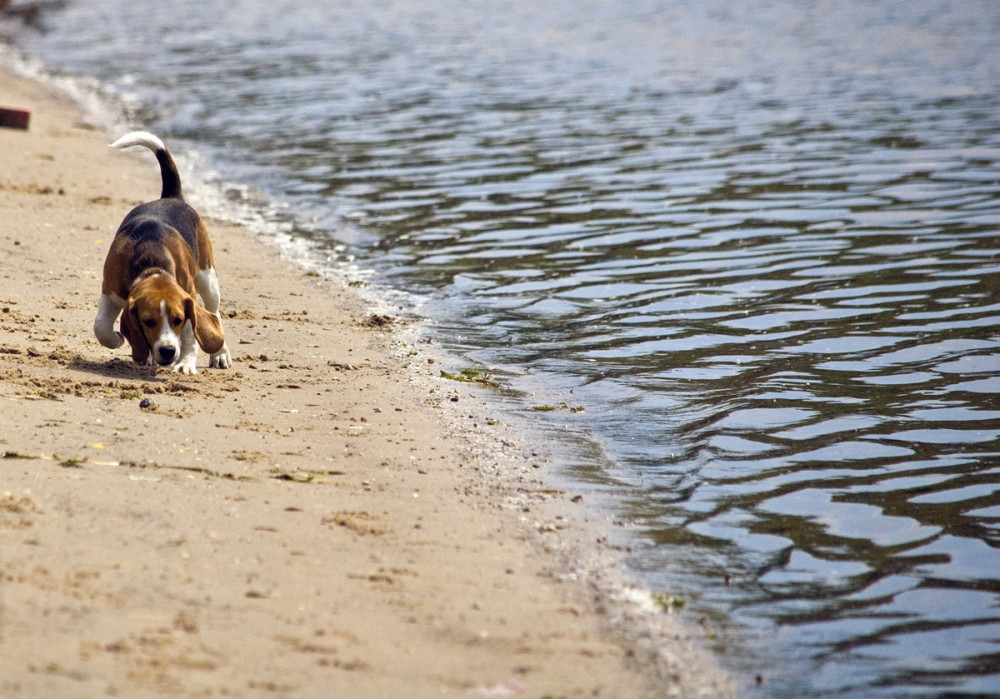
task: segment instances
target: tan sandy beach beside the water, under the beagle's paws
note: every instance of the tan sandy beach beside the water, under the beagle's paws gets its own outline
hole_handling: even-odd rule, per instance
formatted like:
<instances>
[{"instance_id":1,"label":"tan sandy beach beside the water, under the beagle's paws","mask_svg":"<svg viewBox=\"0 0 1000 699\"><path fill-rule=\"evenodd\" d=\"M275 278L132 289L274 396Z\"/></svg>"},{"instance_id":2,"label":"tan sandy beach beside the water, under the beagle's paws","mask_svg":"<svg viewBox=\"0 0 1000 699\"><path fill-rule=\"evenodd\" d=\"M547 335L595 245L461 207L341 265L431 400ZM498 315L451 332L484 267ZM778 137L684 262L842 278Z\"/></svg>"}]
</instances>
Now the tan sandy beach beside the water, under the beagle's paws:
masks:
<instances>
[{"instance_id":1,"label":"tan sandy beach beside the water, under the beagle's paws","mask_svg":"<svg viewBox=\"0 0 1000 699\"><path fill-rule=\"evenodd\" d=\"M32 111L0 129L0 695L731 692L573 557L583 506L475 388L246 230L209 226L231 369L101 347L155 159L46 85L0 72L0 104Z\"/></svg>"}]
</instances>

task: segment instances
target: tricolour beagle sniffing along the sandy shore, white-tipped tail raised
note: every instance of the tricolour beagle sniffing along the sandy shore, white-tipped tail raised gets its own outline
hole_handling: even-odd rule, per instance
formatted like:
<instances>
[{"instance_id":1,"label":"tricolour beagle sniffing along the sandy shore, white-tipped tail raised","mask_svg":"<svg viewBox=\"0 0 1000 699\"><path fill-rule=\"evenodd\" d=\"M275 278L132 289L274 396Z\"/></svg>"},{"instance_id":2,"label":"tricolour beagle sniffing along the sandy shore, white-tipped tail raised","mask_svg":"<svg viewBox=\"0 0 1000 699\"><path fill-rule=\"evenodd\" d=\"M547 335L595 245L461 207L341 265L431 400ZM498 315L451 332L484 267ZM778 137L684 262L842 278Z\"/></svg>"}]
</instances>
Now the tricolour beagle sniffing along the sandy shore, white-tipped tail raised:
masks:
<instances>
[{"instance_id":1,"label":"tricolour beagle sniffing along the sandy shore, white-tipped tail raised","mask_svg":"<svg viewBox=\"0 0 1000 699\"><path fill-rule=\"evenodd\" d=\"M132 146L145 146L156 155L163 189L156 201L132 209L115 233L104 261L94 334L111 349L128 340L139 364L195 374L201 345L211 354L209 366L226 369L232 360L219 317L219 281L208 231L185 203L177 166L163 142L134 131L111 144ZM119 315L121 332L114 327Z\"/></svg>"}]
</instances>

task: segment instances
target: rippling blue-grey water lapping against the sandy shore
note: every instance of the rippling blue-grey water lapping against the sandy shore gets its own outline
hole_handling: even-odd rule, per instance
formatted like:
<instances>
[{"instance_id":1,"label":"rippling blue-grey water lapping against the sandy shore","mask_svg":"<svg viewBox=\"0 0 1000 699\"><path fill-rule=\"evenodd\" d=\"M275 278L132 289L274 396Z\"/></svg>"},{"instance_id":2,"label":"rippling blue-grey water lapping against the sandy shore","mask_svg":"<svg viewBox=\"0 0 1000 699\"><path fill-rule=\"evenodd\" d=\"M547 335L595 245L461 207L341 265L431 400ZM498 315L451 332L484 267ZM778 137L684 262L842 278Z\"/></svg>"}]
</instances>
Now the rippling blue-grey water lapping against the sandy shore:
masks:
<instances>
[{"instance_id":1,"label":"rippling blue-grey water lapping against the sandy shore","mask_svg":"<svg viewBox=\"0 0 1000 699\"><path fill-rule=\"evenodd\" d=\"M1000 692L1000 5L76 0L43 29L16 40L229 204L428 299L740 678Z\"/></svg>"}]
</instances>

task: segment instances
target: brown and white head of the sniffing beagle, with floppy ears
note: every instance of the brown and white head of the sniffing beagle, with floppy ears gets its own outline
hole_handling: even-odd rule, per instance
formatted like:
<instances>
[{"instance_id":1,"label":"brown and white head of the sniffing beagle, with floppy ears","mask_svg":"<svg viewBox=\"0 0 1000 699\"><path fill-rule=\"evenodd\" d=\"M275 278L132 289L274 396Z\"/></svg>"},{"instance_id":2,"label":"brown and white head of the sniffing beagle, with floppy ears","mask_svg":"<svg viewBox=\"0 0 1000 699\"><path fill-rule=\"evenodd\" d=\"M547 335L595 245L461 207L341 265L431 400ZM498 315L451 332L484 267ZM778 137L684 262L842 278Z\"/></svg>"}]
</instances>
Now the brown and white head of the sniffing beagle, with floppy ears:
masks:
<instances>
[{"instance_id":1,"label":"brown and white head of the sniffing beagle, with floppy ears","mask_svg":"<svg viewBox=\"0 0 1000 699\"><path fill-rule=\"evenodd\" d=\"M193 332L210 354L222 349L225 340L218 317L198 305L166 273L144 277L132 287L121 330L132 347L132 359L139 364L174 364L180 358L185 332Z\"/></svg>"}]
</instances>

